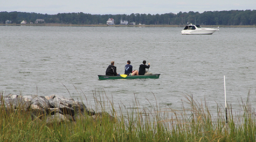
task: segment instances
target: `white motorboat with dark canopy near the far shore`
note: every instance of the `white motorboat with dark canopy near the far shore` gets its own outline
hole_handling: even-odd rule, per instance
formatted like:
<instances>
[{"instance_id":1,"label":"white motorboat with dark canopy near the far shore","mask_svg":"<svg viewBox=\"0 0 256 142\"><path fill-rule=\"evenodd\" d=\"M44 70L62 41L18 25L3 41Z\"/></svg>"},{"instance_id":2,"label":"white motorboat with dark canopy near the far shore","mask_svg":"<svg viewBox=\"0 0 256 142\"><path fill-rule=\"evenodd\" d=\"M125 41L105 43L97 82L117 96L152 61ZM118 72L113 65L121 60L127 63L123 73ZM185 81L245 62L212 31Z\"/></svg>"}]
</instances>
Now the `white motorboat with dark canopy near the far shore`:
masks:
<instances>
[{"instance_id":1,"label":"white motorboat with dark canopy near the far shore","mask_svg":"<svg viewBox=\"0 0 256 142\"><path fill-rule=\"evenodd\" d=\"M213 34L218 28L202 28L200 25L188 25L181 31L182 34Z\"/></svg>"}]
</instances>

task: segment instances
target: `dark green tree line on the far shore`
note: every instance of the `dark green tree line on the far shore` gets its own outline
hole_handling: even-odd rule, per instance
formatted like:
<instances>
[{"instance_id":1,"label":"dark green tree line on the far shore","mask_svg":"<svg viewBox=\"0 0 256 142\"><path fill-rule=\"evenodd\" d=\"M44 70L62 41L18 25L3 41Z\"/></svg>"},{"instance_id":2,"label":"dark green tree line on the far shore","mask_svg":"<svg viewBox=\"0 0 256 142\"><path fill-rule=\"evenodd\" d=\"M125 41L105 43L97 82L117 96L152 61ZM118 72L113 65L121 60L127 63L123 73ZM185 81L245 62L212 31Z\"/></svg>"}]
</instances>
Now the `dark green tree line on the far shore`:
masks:
<instances>
[{"instance_id":1,"label":"dark green tree line on the far shore","mask_svg":"<svg viewBox=\"0 0 256 142\"><path fill-rule=\"evenodd\" d=\"M205 11L199 12L179 12L165 14L89 14L89 13L58 13L41 14L28 12L0 12L0 23L20 24L21 21L34 23L36 19L44 19L45 23L56 24L80 24L98 25L106 24L109 18L115 20L115 24L120 24L120 20L127 20L128 23L145 25L256 25L256 10L230 10L230 11Z\"/></svg>"}]
</instances>

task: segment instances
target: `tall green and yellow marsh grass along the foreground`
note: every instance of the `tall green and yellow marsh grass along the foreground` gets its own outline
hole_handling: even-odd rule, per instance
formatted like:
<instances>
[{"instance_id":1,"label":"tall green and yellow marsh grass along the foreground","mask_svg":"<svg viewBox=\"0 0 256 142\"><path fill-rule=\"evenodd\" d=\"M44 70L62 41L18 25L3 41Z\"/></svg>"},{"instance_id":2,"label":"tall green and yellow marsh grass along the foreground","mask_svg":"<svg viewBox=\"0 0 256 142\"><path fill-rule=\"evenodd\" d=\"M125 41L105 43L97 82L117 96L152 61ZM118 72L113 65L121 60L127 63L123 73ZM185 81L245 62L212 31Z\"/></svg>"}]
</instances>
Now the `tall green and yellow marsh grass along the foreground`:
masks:
<instances>
[{"instance_id":1,"label":"tall green and yellow marsh grass along the foreground","mask_svg":"<svg viewBox=\"0 0 256 142\"><path fill-rule=\"evenodd\" d=\"M183 107L182 111L173 110L168 105L160 108L157 103L151 104L150 109L142 108L135 97L132 106L126 108L120 104L117 109L122 110L116 113L113 99L109 99L106 94L94 93L94 99L98 113L95 116L85 116L75 122L51 124L47 124L44 117L32 119L29 111L7 109L2 104L0 141L256 140L255 111L250 99L241 101L241 110L238 112L233 112L229 106L228 123L223 107L216 103L217 116L212 115L207 102L195 101L192 95L184 96L183 103L188 103L190 108Z\"/></svg>"}]
</instances>

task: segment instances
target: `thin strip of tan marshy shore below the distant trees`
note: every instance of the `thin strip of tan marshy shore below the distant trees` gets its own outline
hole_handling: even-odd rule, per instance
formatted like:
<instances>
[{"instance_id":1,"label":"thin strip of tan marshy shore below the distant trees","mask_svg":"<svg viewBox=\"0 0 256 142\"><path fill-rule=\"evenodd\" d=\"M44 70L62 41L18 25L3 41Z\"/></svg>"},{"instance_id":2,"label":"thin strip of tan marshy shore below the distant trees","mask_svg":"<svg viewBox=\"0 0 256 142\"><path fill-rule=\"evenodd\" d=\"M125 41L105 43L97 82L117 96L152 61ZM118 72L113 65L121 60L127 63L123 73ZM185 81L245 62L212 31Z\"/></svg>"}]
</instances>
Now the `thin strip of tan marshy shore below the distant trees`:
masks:
<instances>
[{"instance_id":1,"label":"thin strip of tan marshy shore below the distant trees","mask_svg":"<svg viewBox=\"0 0 256 142\"><path fill-rule=\"evenodd\" d=\"M185 25L80 25L80 24L0 24L0 26L73 26L73 27L184 27ZM256 25L202 25L202 27L256 27Z\"/></svg>"}]
</instances>

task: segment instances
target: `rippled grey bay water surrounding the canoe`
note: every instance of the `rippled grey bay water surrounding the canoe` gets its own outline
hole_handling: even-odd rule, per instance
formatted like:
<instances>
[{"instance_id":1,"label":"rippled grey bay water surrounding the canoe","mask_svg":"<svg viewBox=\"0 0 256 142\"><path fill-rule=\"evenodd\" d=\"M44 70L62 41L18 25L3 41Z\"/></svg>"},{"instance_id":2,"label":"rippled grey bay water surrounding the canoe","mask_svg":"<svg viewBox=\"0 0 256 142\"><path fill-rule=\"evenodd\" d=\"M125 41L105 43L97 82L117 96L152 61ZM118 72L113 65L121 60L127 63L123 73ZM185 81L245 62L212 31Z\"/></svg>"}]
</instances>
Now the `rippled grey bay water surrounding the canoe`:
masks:
<instances>
[{"instance_id":1,"label":"rippled grey bay water surrounding the canoe","mask_svg":"<svg viewBox=\"0 0 256 142\"><path fill-rule=\"evenodd\" d=\"M106 93L116 107L136 97L141 107L174 109L193 94L216 108L224 106L225 75L227 102L239 108L238 100L251 90L254 105L256 28L220 28L212 35L181 35L182 29L0 26L0 89L83 101L86 96L90 104L93 93ZM111 61L123 74L127 60L139 69L144 59L149 72L161 73L159 79L98 80Z\"/></svg>"}]
</instances>

